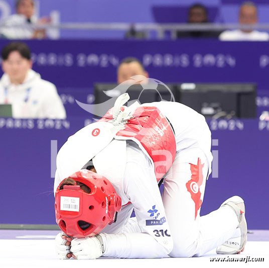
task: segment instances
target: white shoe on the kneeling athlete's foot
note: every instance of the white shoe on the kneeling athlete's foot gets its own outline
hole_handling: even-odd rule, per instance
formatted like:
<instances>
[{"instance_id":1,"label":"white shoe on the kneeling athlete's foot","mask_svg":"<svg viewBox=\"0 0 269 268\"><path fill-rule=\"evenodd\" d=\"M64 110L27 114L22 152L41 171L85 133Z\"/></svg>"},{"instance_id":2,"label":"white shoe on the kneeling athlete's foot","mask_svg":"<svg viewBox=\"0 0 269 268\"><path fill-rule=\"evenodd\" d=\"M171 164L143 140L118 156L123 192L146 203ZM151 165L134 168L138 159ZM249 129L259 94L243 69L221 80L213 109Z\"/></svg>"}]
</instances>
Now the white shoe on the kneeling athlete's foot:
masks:
<instances>
[{"instance_id":1,"label":"white shoe on the kneeling athlete's foot","mask_svg":"<svg viewBox=\"0 0 269 268\"><path fill-rule=\"evenodd\" d=\"M238 226L230 239L217 247L217 254L239 254L244 250L247 240L247 226L245 220L245 205L244 200L239 196L233 196L224 201L220 207L230 206L238 218Z\"/></svg>"}]
</instances>

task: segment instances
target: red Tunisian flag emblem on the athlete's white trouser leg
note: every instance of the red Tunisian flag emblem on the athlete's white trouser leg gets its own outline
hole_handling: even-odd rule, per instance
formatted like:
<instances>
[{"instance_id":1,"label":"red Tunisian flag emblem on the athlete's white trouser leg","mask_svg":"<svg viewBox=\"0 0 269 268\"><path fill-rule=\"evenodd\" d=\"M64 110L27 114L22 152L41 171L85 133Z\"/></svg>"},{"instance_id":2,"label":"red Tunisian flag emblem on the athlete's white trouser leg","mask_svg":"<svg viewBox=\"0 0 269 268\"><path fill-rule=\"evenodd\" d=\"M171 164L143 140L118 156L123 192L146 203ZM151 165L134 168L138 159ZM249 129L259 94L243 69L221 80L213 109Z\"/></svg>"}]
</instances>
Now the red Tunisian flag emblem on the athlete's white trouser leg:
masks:
<instances>
[{"instance_id":1,"label":"red Tunisian flag emblem on the athlete's white trouser leg","mask_svg":"<svg viewBox=\"0 0 269 268\"><path fill-rule=\"evenodd\" d=\"M201 159L198 158L197 165L191 164L191 180L186 183L188 192L191 194L191 198L195 204L195 219L197 217L197 212L201 208L203 201L201 200L200 186L203 183L203 167L204 164L201 163Z\"/></svg>"}]
</instances>

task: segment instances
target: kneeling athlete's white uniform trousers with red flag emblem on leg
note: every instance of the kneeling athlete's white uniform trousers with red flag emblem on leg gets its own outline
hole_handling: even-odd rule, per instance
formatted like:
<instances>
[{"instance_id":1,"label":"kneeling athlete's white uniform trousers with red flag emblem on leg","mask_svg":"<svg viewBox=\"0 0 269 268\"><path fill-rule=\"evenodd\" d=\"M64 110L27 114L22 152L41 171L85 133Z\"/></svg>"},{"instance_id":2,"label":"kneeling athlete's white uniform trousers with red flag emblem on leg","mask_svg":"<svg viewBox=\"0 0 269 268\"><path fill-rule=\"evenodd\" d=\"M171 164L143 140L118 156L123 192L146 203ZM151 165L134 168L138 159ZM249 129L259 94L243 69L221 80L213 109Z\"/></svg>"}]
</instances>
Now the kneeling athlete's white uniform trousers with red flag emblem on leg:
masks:
<instances>
[{"instance_id":1,"label":"kneeling athlete's white uniform trousers with red flag emblem on leg","mask_svg":"<svg viewBox=\"0 0 269 268\"><path fill-rule=\"evenodd\" d=\"M171 257L201 256L231 238L238 225L229 206L200 217L208 162L200 149L192 149L191 155L193 163L186 154L177 153L164 180L162 199L174 242ZM130 218L122 232L141 232L141 229L136 219Z\"/></svg>"}]
</instances>

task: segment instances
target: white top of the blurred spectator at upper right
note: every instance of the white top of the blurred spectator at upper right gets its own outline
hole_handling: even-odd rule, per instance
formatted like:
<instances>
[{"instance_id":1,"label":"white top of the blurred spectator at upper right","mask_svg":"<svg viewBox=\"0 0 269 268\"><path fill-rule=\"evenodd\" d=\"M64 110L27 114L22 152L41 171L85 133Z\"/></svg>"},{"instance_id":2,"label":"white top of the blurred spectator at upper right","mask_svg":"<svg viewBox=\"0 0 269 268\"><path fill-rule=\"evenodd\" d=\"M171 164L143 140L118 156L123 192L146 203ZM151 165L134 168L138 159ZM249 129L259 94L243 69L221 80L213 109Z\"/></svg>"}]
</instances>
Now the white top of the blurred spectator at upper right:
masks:
<instances>
[{"instance_id":1,"label":"white top of the blurred spectator at upper right","mask_svg":"<svg viewBox=\"0 0 269 268\"><path fill-rule=\"evenodd\" d=\"M219 35L221 41L268 41L269 34L266 32L251 31L250 33L241 30L227 30Z\"/></svg>"}]
</instances>

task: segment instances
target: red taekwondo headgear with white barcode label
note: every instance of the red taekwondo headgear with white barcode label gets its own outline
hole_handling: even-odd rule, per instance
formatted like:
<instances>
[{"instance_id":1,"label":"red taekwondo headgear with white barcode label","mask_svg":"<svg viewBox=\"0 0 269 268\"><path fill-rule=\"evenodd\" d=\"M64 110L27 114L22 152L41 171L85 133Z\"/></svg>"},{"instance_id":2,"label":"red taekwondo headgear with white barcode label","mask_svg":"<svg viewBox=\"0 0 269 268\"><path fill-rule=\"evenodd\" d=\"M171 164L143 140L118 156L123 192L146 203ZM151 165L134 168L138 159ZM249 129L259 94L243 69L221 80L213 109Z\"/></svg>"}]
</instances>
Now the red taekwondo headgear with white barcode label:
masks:
<instances>
[{"instance_id":1,"label":"red taekwondo headgear with white barcode label","mask_svg":"<svg viewBox=\"0 0 269 268\"><path fill-rule=\"evenodd\" d=\"M87 169L77 171L69 178L85 184L90 193L78 185L65 185L55 194L56 222L61 230L73 237L82 238L99 233L116 220L121 199L112 184L104 177Z\"/></svg>"}]
</instances>

